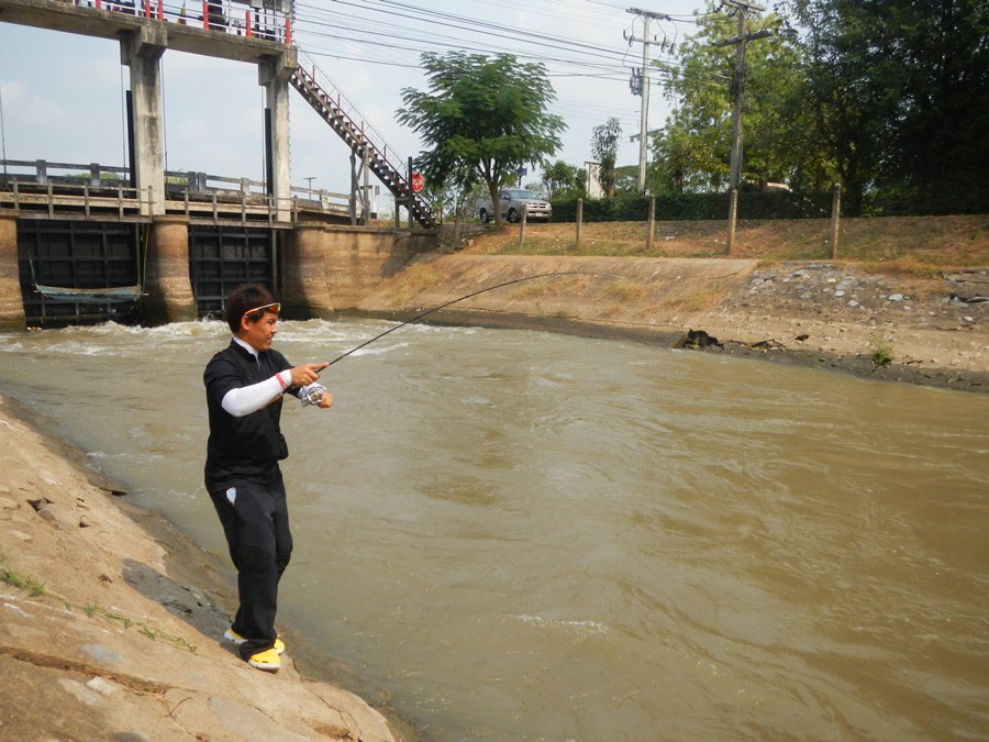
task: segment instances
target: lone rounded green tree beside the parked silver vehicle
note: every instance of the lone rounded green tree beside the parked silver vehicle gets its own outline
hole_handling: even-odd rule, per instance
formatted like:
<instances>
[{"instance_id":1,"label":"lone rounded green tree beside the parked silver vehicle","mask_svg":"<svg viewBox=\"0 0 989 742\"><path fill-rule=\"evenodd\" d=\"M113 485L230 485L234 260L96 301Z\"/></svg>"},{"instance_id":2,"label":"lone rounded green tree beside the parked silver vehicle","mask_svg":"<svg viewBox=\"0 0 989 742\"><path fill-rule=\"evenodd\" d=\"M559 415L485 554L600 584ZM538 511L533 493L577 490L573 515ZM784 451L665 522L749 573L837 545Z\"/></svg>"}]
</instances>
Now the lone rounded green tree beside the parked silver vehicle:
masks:
<instances>
[{"instance_id":1,"label":"lone rounded green tree beside the parked silver vehicle","mask_svg":"<svg viewBox=\"0 0 989 742\"><path fill-rule=\"evenodd\" d=\"M429 89L402 90L398 121L430 147L415 164L431 181L481 180L497 202L500 186L516 169L544 162L560 146L566 125L546 111L555 93L543 65L463 52L425 53L421 59ZM500 225L498 209L494 218Z\"/></svg>"}]
</instances>

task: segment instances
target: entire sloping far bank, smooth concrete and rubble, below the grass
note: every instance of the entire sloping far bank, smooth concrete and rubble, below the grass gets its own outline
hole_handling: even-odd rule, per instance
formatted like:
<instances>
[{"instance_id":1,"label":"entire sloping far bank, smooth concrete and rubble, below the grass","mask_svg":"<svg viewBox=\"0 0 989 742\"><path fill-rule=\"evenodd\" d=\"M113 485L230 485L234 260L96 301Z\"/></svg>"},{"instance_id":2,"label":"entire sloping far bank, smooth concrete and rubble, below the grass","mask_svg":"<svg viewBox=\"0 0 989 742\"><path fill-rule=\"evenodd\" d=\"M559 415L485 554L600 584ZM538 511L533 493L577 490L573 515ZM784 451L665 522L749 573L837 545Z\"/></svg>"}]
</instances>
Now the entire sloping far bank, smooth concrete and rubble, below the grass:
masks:
<instances>
[{"instance_id":1,"label":"entire sloping far bank, smooth concrete and rubble, below the grass","mask_svg":"<svg viewBox=\"0 0 989 742\"><path fill-rule=\"evenodd\" d=\"M536 278L530 278L536 276ZM924 277L855 264L756 259L416 256L359 304L408 319L514 326L824 366L989 391L989 270Z\"/></svg>"}]
</instances>

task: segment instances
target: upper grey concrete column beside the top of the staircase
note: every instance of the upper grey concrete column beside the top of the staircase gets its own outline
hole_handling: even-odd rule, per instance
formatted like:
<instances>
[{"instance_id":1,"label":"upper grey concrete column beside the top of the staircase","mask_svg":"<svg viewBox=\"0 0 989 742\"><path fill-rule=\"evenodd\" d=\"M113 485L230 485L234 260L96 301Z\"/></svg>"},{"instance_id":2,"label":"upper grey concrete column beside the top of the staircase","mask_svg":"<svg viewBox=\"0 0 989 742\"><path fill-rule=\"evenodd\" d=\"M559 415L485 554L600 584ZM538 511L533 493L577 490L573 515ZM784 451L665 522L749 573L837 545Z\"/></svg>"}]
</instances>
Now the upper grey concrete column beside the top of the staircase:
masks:
<instances>
[{"instance_id":1,"label":"upper grey concrete column beside the top of the staircase","mask_svg":"<svg viewBox=\"0 0 989 742\"><path fill-rule=\"evenodd\" d=\"M293 47L257 65L257 81L265 89L270 130L267 141L268 190L275 197L276 219L290 221L292 213L291 162L289 159L289 78L299 66Z\"/></svg>"}]
</instances>

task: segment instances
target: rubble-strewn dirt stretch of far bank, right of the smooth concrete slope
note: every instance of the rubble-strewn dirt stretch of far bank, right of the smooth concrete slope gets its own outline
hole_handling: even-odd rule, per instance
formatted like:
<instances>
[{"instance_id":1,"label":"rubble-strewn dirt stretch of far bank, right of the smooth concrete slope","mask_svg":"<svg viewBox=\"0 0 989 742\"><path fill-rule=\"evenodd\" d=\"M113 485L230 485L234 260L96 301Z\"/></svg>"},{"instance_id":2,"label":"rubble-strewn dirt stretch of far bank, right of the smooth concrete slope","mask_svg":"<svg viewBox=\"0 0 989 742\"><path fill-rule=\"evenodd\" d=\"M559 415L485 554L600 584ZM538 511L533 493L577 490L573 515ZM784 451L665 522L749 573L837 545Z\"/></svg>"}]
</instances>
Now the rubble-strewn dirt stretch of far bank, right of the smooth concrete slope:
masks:
<instances>
[{"instance_id":1,"label":"rubble-strewn dirt stretch of far bank, right of the smooth concrete slope","mask_svg":"<svg viewBox=\"0 0 989 742\"><path fill-rule=\"evenodd\" d=\"M756 268L704 318L710 350L989 391L989 269L919 279L853 265Z\"/></svg>"}]
</instances>

